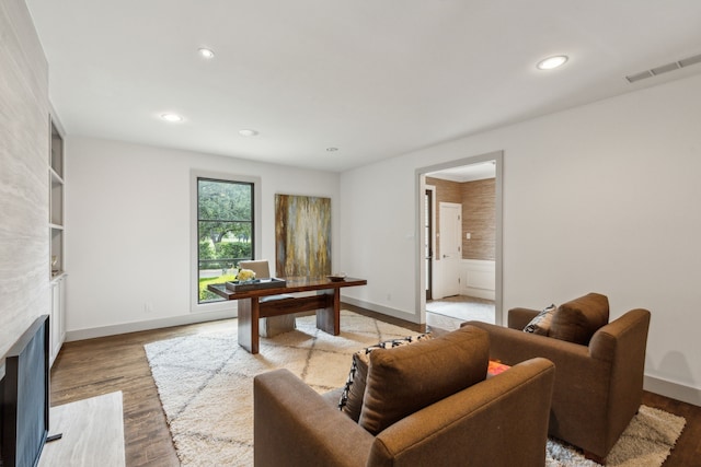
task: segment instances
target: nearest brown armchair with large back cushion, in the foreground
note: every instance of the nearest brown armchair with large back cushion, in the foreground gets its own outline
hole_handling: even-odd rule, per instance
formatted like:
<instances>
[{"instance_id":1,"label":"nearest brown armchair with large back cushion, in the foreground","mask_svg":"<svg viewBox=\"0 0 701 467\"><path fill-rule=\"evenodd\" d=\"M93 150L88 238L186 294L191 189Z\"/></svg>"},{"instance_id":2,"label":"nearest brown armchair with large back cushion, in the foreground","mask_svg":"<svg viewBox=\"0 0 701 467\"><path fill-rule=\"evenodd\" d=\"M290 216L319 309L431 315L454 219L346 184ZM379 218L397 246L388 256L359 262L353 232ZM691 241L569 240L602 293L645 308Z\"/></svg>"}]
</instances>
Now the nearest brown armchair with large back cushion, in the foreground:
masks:
<instances>
[{"instance_id":1,"label":"nearest brown armchair with large back cushion, in the foreground","mask_svg":"<svg viewBox=\"0 0 701 467\"><path fill-rule=\"evenodd\" d=\"M322 396L287 370L261 374L254 464L543 465L554 366L531 359L485 378L487 353L487 334L470 326L374 350L359 422L338 410L338 392Z\"/></svg>"}]
</instances>

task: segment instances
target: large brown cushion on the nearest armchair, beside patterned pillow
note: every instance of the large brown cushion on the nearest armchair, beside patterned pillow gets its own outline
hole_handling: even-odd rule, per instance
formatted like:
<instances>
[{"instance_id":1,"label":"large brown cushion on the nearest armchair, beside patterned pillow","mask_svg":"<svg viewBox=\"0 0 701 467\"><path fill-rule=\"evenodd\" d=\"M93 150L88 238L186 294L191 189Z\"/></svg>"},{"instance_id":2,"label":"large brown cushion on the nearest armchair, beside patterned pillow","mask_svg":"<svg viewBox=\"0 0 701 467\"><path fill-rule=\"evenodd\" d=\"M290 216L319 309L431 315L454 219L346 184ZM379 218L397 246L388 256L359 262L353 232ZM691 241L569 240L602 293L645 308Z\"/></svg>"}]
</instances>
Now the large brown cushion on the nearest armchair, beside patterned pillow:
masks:
<instances>
[{"instance_id":1,"label":"large brown cushion on the nearest armchair, beside patterned pillow","mask_svg":"<svg viewBox=\"0 0 701 467\"><path fill-rule=\"evenodd\" d=\"M474 326L370 353L358 423L372 434L486 377L489 332Z\"/></svg>"}]
</instances>

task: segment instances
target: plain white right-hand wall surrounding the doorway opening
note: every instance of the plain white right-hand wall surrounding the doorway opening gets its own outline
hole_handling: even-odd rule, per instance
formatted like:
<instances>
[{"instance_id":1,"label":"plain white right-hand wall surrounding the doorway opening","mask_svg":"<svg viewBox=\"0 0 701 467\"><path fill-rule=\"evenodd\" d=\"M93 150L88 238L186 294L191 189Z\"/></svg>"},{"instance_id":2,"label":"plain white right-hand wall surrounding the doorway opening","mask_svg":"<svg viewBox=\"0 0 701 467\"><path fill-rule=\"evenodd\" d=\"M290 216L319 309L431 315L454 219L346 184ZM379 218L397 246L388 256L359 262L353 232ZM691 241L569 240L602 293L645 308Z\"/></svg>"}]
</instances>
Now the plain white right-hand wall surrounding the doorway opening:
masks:
<instances>
[{"instance_id":1,"label":"plain white right-hand wall surrounding the doorway opening","mask_svg":"<svg viewBox=\"0 0 701 467\"><path fill-rule=\"evenodd\" d=\"M341 258L369 278L346 293L415 316L414 170L504 150L503 312L590 291L612 318L648 308L648 387L701 404L700 124L697 75L344 173Z\"/></svg>"}]
</instances>

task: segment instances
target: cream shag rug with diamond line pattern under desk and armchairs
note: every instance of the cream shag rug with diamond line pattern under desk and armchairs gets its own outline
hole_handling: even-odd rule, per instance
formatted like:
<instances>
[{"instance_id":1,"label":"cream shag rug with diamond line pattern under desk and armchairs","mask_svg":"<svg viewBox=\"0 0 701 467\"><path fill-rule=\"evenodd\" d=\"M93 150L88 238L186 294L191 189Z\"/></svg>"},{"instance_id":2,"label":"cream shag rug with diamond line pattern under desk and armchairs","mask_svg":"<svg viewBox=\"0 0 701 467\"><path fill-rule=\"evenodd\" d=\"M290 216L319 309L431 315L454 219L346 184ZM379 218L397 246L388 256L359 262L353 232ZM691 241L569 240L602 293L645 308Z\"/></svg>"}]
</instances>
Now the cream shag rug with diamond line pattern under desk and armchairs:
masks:
<instances>
[{"instance_id":1,"label":"cream shag rug with diamond line pattern under desk and armchairs","mask_svg":"<svg viewBox=\"0 0 701 467\"><path fill-rule=\"evenodd\" d=\"M416 332L348 311L341 335L317 329L314 316L297 329L261 338L252 355L230 332L200 332L145 346L175 451L183 466L253 465L253 376L286 367L318 393L345 384L350 355L379 341ZM659 467L683 428L683 418L641 407L608 456L609 466ZM550 440L549 467L590 467L574 448Z\"/></svg>"}]
</instances>

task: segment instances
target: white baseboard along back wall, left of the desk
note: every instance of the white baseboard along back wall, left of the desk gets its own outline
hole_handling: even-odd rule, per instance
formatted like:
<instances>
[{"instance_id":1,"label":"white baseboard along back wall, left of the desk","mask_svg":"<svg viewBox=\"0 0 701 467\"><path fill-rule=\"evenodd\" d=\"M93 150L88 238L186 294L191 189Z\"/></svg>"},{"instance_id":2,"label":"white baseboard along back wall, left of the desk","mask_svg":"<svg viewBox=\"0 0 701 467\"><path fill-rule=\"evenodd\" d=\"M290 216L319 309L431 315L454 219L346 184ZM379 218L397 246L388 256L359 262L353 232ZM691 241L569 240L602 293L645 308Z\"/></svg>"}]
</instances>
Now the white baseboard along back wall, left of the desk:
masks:
<instances>
[{"instance_id":1,"label":"white baseboard along back wall, left of the desk","mask_svg":"<svg viewBox=\"0 0 701 467\"><path fill-rule=\"evenodd\" d=\"M237 317L237 308L225 310L210 313L191 313L187 315L172 316L162 319L150 319L147 322L124 323L113 326L97 328L69 330L66 332L66 341L94 339L96 337L115 336L127 332L138 332L142 330L159 329L164 327L192 325L195 323L216 322L219 319L230 319Z\"/></svg>"}]
</instances>

